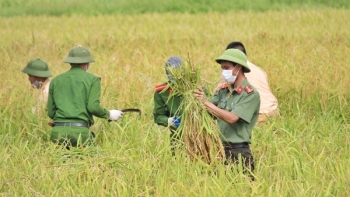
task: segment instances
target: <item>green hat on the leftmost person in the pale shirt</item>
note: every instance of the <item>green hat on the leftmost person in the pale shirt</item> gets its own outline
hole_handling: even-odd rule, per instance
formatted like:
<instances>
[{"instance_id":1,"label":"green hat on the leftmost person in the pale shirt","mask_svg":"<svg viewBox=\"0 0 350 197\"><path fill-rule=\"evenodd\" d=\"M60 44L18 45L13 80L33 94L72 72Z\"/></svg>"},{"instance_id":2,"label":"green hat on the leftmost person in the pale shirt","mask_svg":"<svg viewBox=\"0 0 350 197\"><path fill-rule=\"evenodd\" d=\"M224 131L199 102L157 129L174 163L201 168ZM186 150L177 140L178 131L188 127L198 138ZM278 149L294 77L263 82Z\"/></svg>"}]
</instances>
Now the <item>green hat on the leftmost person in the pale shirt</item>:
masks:
<instances>
[{"instance_id":1,"label":"green hat on the leftmost person in the pale shirt","mask_svg":"<svg viewBox=\"0 0 350 197\"><path fill-rule=\"evenodd\" d=\"M36 77L52 77L47 63L39 58L30 60L22 72Z\"/></svg>"}]
</instances>

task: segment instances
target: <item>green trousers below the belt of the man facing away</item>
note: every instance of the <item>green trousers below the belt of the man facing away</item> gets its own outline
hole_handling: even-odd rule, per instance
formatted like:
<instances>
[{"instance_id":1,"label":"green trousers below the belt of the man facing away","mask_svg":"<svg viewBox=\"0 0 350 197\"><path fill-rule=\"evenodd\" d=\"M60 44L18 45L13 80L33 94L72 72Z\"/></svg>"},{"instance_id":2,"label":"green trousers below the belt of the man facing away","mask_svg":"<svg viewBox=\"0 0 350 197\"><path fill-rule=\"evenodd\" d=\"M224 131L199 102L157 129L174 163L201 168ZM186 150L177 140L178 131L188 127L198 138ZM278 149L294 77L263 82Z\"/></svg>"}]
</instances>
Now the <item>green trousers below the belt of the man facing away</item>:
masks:
<instances>
[{"instance_id":1,"label":"green trousers below the belt of the man facing away","mask_svg":"<svg viewBox=\"0 0 350 197\"><path fill-rule=\"evenodd\" d=\"M50 140L66 147L79 147L91 144L94 136L94 133L86 127L56 126L51 130Z\"/></svg>"}]
</instances>

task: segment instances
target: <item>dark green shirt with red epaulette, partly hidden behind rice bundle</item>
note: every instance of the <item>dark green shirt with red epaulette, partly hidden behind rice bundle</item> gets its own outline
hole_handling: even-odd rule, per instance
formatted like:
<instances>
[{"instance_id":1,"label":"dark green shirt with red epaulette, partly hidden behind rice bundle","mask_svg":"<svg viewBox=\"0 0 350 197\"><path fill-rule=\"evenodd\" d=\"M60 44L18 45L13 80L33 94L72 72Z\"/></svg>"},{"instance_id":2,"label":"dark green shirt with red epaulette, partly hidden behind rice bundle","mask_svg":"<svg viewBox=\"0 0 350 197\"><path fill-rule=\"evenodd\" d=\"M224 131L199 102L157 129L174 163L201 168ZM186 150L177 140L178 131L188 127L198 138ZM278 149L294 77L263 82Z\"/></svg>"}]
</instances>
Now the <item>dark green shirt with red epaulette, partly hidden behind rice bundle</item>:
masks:
<instances>
[{"instance_id":1,"label":"dark green shirt with red epaulette, partly hidden behind rice bundle","mask_svg":"<svg viewBox=\"0 0 350 197\"><path fill-rule=\"evenodd\" d=\"M169 117L180 116L182 113L182 111L179 110L182 97L170 97L171 89L163 91L166 86L167 83L157 86L154 93L154 122L163 126L168 126Z\"/></svg>"}]
</instances>

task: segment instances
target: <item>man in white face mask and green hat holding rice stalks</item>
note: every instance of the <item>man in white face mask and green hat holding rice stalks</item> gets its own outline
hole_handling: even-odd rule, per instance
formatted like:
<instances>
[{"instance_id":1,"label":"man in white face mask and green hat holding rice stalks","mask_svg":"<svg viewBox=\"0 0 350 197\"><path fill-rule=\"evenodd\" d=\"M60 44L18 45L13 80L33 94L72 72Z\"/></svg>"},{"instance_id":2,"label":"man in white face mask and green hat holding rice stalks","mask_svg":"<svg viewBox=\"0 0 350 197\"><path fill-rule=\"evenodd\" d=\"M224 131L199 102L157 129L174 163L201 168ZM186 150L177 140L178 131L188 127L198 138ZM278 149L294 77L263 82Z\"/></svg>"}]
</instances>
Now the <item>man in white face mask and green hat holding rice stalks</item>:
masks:
<instances>
[{"instance_id":1,"label":"man in white face mask and green hat holding rice stalks","mask_svg":"<svg viewBox=\"0 0 350 197\"><path fill-rule=\"evenodd\" d=\"M221 65L222 77L229 85L216 92L210 101L201 88L195 90L194 95L217 117L226 159L238 163L241 156L244 166L253 171L249 144L259 116L260 96L244 75L250 72L247 57L238 49L228 49L216 62Z\"/></svg>"}]
</instances>

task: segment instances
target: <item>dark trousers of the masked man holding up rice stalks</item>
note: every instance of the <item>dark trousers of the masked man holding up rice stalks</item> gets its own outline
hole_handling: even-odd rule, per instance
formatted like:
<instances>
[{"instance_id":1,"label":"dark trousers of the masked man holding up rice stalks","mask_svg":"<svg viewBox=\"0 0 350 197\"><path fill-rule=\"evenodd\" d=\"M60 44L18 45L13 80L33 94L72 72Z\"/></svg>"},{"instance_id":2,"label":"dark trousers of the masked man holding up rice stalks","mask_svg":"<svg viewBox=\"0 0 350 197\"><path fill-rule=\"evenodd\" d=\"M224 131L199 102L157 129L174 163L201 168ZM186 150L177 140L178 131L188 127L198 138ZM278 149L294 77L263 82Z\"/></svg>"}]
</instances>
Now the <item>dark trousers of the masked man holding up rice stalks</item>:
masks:
<instances>
[{"instance_id":1,"label":"dark trousers of the masked man holding up rice stalks","mask_svg":"<svg viewBox=\"0 0 350 197\"><path fill-rule=\"evenodd\" d=\"M239 164L241 158L241 162L245 168L252 172L254 171L254 158L248 145L242 148L235 148L224 144L224 150L227 160L226 163L232 162L234 164Z\"/></svg>"}]
</instances>

